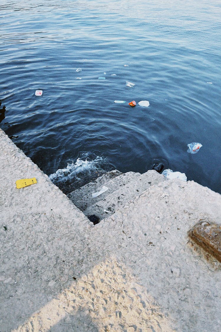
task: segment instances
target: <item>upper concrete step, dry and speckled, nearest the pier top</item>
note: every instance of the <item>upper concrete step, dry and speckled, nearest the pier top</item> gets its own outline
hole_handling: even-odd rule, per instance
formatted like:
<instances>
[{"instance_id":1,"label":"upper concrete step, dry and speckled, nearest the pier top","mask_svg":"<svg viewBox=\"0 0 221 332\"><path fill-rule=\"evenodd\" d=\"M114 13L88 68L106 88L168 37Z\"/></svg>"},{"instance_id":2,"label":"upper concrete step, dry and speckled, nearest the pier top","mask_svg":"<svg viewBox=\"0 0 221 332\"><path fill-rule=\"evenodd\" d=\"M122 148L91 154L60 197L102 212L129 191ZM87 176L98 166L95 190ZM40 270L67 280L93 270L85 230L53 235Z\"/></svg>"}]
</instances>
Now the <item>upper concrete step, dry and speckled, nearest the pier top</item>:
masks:
<instances>
[{"instance_id":1,"label":"upper concrete step, dry and speckled, nearest the pier top","mask_svg":"<svg viewBox=\"0 0 221 332\"><path fill-rule=\"evenodd\" d=\"M144 174L137 174L134 176L130 174L132 172L125 173L127 176L127 183L123 184L119 176L115 179L115 191L106 192L105 196L99 196L99 199L93 205L88 206L83 213L86 216L96 215L100 220L113 214L119 207L124 206L136 196L139 196L144 190L150 188L150 186L157 185L158 183L165 181L166 178L157 173L154 170L149 170ZM107 184L108 187L108 184Z\"/></svg>"}]
</instances>

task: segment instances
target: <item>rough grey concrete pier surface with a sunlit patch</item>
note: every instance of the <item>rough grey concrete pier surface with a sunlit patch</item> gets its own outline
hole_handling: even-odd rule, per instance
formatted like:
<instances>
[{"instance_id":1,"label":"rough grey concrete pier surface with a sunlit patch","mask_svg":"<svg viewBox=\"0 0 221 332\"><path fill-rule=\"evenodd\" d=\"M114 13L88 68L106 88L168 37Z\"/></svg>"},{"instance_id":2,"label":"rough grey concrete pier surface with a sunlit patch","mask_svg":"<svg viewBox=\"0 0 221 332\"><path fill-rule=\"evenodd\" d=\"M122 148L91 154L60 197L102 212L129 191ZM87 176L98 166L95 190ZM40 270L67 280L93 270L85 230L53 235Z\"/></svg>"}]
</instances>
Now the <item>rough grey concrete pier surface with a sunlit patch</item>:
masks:
<instances>
[{"instance_id":1,"label":"rough grey concrete pier surface with a sunlit patch","mask_svg":"<svg viewBox=\"0 0 221 332\"><path fill-rule=\"evenodd\" d=\"M163 181L93 226L2 130L0 146L1 332L221 330L221 264L187 235L221 224L221 195Z\"/></svg>"}]
</instances>

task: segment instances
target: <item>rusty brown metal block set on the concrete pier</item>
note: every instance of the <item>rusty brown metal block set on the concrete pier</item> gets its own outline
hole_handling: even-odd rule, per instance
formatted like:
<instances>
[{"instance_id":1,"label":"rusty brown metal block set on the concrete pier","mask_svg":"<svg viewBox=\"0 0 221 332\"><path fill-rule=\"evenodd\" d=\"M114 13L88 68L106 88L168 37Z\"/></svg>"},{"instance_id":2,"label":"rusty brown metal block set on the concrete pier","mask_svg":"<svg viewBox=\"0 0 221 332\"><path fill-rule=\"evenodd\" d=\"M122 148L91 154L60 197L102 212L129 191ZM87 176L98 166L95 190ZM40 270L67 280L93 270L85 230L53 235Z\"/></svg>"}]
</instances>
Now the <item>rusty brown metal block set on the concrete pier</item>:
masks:
<instances>
[{"instance_id":1,"label":"rusty brown metal block set on the concrete pier","mask_svg":"<svg viewBox=\"0 0 221 332\"><path fill-rule=\"evenodd\" d=\"M221 225L200 221L189 230L188 235L221 263Z\"/></svg>"}]
</instances>

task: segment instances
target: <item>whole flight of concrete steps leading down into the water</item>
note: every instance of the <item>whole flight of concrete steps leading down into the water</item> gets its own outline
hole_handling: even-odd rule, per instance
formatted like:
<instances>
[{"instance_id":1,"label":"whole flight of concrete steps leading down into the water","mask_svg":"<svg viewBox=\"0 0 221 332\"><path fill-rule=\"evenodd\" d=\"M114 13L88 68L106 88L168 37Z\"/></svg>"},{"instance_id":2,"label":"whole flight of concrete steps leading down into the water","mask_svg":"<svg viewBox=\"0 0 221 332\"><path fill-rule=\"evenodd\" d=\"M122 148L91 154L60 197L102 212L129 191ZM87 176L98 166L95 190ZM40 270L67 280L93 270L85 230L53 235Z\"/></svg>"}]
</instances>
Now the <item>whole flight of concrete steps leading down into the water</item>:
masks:
<instances>
[{"instance_id":1,"label":"whole flight of concrete steps leading down into the water","mask_svg":"<svg viewBox=\"0 0 221 332\"><path fill-rule=\"evenodd\" d=\"M165 177L154 170L140 174L110 171L67 196L83 213L89 217L96 216L99 221L113 214L119 207L139 196L150 186L165 181ZM92 194L100 191L102 186L108 190L93 198Z\"/></svg>"}]
</instances>

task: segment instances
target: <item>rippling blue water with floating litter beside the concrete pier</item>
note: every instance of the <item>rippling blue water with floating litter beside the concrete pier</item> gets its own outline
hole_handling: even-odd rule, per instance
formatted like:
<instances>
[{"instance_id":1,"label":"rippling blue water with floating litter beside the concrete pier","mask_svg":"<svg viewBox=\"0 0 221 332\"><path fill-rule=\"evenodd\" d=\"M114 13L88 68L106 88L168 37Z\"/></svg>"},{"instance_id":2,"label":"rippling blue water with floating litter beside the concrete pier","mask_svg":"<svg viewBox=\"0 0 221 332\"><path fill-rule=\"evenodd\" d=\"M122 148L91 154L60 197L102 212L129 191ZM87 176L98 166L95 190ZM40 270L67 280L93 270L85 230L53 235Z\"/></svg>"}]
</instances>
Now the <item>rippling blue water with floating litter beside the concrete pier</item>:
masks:
<instances>
[{"instance_id":1,"label":"rippling blue water with floating litter beside the concrete pier","mask_svg":"<svg viewBox=\"0 0 221 332\"><path fill-rule=\"evenodd\" d=\"M155 162L221 193L220 0L1 0L0 26L0 127L65 193Z\"/></svg>"}]
</instances>

